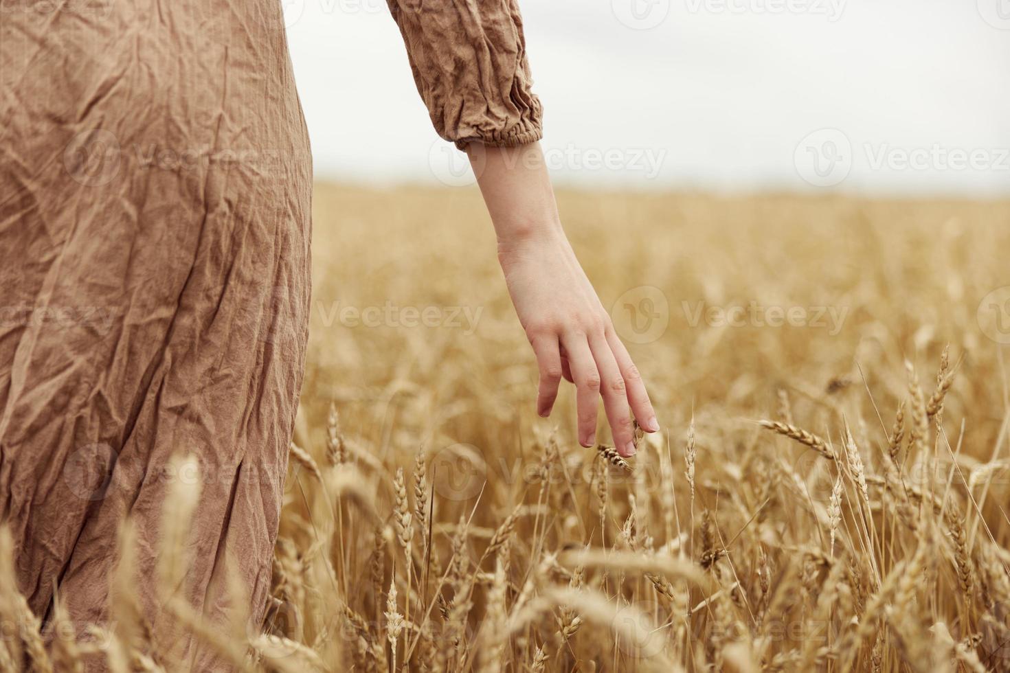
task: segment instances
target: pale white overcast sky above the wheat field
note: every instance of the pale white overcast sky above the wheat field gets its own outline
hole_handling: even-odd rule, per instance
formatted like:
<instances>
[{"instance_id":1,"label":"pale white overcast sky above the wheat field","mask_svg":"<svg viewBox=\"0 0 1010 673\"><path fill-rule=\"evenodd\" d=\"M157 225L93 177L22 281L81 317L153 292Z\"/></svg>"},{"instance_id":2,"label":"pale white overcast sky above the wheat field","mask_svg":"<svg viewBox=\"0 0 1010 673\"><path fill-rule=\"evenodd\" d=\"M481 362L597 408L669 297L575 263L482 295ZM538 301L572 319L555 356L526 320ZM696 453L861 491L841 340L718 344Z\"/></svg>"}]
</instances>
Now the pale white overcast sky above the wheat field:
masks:
<instances>
[{"instance_id":1,"label":"pale white overcast sky above the wheat field","mask_svg":"<svg viewBox=\"0 0 1010 673\"><path fill-rule=\"evenodd\" d=\"M385 0L285 4L319 177L467 182ZM1010 194L1010 0L520 5L559 183Z\"/></svg>"}]
</instances>

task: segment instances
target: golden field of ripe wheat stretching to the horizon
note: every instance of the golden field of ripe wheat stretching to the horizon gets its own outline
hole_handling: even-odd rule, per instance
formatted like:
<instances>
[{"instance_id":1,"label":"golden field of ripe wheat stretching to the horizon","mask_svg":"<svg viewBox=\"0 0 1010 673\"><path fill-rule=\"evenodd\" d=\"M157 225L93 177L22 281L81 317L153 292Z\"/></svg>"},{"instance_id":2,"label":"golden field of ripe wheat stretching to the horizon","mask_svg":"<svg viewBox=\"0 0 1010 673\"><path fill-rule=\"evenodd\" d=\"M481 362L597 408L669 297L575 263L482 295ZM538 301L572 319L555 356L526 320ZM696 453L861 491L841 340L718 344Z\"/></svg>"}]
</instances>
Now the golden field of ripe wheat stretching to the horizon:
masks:
<instances>
[{"instance_id":1,"label":"golden field of ripe wheat stretching to the horizon","mask_svg":"<svg viewBox=\"0 0 1010 673\"><path fill-rule=\"evenodd\" d=\"M265 623L186 628L245 671L1010 670L1010 203L559 202L663 430L536 416L476 189L319 185ZM177 670L125 638L23 640Z\"/></svg>"}]
</instances>

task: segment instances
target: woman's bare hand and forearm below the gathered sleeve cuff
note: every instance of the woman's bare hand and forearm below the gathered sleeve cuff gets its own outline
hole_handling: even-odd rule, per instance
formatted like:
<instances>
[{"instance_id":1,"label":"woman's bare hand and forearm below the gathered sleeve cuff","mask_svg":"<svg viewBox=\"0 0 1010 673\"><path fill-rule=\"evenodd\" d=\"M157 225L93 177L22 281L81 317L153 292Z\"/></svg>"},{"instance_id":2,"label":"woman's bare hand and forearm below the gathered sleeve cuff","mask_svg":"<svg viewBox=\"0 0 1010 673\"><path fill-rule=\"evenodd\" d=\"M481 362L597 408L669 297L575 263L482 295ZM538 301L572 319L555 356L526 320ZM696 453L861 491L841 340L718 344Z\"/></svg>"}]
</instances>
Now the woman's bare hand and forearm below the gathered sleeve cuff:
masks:
<instances>
[{"instance_id":1,"label":"woman's bare hand and forearm below the gathered sleeve cuff","mask_svg":"<svg viewBox=\"0 0 1010 673\"><path fill-rule=\"evenodd\" d=\"M498 235L498 259L540 370L536 411L548 416L562 376L575 383L579 441L596 443L598 400L618 452L634 454L633 412L643 430L659 424L645 385L562 229L538 144L468 153Z\"/></svg>"}]
</instances>

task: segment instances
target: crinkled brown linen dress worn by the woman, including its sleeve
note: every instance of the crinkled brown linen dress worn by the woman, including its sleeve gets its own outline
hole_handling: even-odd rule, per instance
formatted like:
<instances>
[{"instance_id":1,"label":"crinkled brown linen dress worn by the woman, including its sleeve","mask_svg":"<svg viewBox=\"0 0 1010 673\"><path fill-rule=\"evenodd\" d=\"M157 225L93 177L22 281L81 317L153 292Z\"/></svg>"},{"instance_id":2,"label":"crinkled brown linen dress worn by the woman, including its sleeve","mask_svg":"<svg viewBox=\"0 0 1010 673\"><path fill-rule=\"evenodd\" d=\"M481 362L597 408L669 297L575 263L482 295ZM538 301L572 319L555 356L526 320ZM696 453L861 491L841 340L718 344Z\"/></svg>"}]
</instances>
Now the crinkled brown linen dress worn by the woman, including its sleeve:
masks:
<instances>
[{"instance_id":1,"label":"crinkled brown linen dress worn by the woman, including its sleeve","mask_svg":"<svg viewBox=\"0 0 1010 673\"><path fill-rule=\"evenodd\" d=\"M390 7L439 135L540 137L514 0ZM0 10L0 521L20 588L41 616L57 588L79 627L105 622L129 514L157 628L161 506L186 452L188 598L220 618L234 566L259 624L309 318L311 157L281 5Z\"/></svg>"}]
</instances>

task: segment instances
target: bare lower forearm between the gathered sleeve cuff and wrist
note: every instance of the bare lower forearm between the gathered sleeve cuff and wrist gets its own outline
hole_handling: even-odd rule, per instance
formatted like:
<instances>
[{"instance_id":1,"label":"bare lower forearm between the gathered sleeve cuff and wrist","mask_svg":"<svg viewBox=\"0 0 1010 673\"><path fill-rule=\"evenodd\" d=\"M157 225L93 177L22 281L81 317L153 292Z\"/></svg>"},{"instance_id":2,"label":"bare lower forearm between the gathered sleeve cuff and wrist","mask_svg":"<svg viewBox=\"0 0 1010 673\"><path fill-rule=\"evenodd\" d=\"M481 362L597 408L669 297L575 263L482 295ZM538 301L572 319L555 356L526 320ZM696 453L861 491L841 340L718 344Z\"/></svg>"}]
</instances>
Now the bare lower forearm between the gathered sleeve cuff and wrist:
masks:
<instances>
[{"instance_id":1,"label":"bare lower forearm between the gathered sleeve cuff and wrist","mask_svg":"<svg viewBox=\"0 0 1010 673\"><path fill-rule=\"evenodd\" d=\"M467 150L499 245L564 238L540 144Z\"/></svg>"}]
</instances>

